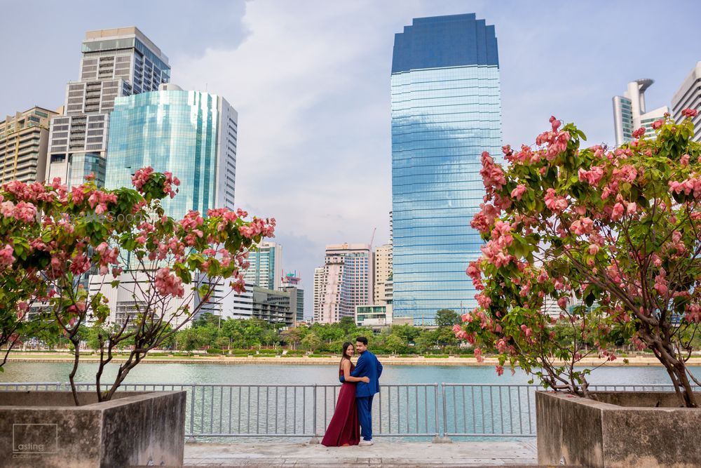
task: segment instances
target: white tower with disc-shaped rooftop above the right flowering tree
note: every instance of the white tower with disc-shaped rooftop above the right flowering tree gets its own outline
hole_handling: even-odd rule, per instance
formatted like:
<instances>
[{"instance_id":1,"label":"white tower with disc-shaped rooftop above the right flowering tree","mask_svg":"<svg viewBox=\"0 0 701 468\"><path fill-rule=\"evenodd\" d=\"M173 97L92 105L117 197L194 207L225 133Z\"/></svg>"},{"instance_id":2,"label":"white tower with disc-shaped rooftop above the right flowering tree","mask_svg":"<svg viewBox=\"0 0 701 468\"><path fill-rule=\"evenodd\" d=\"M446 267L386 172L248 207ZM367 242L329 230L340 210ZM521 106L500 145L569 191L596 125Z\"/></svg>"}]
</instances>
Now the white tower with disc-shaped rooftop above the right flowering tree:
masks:
<instances>
[{"instance_id":1,"label":"white tower with disc-shaped rooftop above the right flowering tree","mask_svg":"<svg viewBox=\"0 0 701 468\"><path fill-rule=\"evenodd\" d=\"M613 130L615 145L620 146L633 139L633 132L645 127L645 135L652 136L652 123L669 112L667 106L646 112L645 91L655 81L644 78L628 83L628 88L622 96L613 96Z\"/></svg>"}]
</instances>

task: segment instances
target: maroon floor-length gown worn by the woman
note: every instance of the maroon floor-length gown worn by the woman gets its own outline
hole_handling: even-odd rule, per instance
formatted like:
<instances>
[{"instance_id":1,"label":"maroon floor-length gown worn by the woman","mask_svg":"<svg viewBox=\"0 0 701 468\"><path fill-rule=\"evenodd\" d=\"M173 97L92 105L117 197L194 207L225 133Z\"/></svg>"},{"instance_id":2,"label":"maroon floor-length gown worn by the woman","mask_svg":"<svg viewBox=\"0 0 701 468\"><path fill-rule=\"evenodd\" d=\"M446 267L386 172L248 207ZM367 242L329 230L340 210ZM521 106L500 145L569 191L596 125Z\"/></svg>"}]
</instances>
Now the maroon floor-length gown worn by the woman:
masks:
<instances>
[{"instance_id":1,"label":"maroon floor-length gown worn by the woman","mask_svg":"<svg viewBox=\"0 0 701 468\"><path fill-rule=\"evenodd\" d=\"M351 363L351 372L355 365ZM339 377L343 370L339 368ZM329 422L326 434L321 443L327 447L357 446L360 442L360 423L358 422L358 407L355 406L355 383L346 382L341 385L339 400L336 402L334 416Z\"/></svg>"}]
</instances>

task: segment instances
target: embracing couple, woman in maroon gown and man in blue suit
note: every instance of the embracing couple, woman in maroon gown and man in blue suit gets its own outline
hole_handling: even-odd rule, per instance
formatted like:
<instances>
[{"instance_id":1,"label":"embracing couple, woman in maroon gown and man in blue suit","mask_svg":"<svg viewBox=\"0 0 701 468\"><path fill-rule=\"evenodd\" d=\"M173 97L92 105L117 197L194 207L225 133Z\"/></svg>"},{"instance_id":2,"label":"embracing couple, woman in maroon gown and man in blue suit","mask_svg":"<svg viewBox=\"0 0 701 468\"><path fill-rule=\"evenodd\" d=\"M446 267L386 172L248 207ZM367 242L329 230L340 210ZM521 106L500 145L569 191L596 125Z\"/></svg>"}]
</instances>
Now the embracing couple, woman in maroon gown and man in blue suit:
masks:
<instances>
[{"instance_id":1,"label":"embracing couple, woman in maroon gown and man in blue suit","mask_svg":"<svg viewBox=\"0 0 701 468\"><path fill-rule=\"evenodd\" d=\"M367 350L367 338L359 336L355 348L360 357L353 365L353 344L343 344L339 380L341 391L334 416L321 443L327 447L372 446L372 397L380 391L382 364ZM360 429L358 424L360 423ZM361 430L362 429L362 430ZM362 441L360 436L362 435Z\"/></svg>"}]
</instances>

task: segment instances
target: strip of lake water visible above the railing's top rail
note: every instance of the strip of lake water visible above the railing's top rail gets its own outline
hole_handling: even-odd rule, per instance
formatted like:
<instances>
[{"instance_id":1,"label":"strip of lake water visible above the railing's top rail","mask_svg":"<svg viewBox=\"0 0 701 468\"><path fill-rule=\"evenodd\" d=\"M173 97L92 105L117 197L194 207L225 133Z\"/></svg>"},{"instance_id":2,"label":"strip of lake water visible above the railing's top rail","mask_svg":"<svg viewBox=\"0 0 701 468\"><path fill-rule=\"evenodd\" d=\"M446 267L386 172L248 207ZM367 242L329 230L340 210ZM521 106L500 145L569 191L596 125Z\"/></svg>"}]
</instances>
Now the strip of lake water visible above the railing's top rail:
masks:
<instances>
[{"instance_id":1,"label":"strip of lake water visible above the railing's top rail","mask_svg":"<svg viewBox=\"0 0 701 468\"><path fill-rule=\"evenodd\" d=\"M71 363L10 362L0 373L0 382L67 382ZM114 367L105 377L114 376ZM175 384L245 384L245 385L311 385L338 383L336 366L272 365L272 364L149 364L141 363L128 375L126 383ZM77 382L94 382L97 364L81 364ZM701 376L701 367L692 367ZM385 366L381 381L392 384L464 383L524 384L529 376L507 369L501 377L494 366ZM669 385L669 376L660 366L604 367L594 370L588 379L592 385ZM103 382L109 379L103 378Z\"/></svg>"}]
</instances>

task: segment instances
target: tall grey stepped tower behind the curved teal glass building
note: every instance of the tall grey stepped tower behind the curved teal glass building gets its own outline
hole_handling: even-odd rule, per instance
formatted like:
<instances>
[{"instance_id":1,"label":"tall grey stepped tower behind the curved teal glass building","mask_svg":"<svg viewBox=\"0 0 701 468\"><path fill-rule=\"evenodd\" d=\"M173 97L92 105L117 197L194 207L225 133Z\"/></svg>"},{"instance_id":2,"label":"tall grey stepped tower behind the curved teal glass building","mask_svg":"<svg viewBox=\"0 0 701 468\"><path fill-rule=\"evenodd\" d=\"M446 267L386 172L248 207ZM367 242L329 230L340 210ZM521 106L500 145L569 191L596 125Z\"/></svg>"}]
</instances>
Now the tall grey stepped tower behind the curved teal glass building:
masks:
<instances>
[{"instance_id":1,"label":"tall grey stepped tower behind the curved teal glass building","mask_svg":"<svg viewBox=\"0 0 701 468\"><path fill-rule=\"evenodd\" d=\"M168 81L168 57L136 27L88 32L80 78L69 81L64 115L51 122L47 179L60 177L71 187L94 173L104 185L115 99L156 91Z\"/></svg>"}]
</instances>

